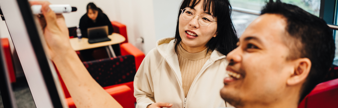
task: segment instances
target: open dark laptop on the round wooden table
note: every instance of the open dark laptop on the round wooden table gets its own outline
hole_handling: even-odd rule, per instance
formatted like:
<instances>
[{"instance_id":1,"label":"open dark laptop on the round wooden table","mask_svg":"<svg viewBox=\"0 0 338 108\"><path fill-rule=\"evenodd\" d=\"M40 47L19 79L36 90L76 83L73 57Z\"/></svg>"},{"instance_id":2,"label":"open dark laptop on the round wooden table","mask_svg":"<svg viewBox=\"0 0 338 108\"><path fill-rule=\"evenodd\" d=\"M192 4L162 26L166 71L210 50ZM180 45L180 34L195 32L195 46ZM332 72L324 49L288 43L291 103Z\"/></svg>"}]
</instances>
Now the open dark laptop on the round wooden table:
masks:
<instances>
[{"instance_id":1,"label":"open dark laptop on the round wooden table","mask_svg":"<svg viewBox=\"0 0 338 108\"><path fill-rule=\"evenodd\" d=\"M108 26L92 27L87 29L88 43L111 41L108 38Z\"/></svg>"}]
</instances>

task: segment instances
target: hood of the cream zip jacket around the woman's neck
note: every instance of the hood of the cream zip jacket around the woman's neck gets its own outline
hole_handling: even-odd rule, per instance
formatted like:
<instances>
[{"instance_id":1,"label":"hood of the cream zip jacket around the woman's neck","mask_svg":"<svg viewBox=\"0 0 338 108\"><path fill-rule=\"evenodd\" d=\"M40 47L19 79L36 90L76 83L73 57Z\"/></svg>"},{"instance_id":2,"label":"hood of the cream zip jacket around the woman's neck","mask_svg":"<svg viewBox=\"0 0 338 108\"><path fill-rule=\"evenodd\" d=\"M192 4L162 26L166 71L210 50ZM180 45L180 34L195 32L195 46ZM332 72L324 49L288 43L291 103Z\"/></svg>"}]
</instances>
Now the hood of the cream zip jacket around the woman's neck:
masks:
<instances>
[{"instance_id":1,"label":"hood of the cream zip jacket around the woman's neck","mask_svg":"<svg viewBox=\"0 0 338 108\"><path fill-rule=\"evenodd\" d=\"M170 58L172 56L177 57L177 53L175 52L175 38L163 38L156 42L156 49L159 51L161 56L163 58ZM224 56L222 53L218 52L217 50L214 50L211 55L210 59L212 62L215 62L220 59L224 59L226 56Z\"/></svg>"}]
</instances>

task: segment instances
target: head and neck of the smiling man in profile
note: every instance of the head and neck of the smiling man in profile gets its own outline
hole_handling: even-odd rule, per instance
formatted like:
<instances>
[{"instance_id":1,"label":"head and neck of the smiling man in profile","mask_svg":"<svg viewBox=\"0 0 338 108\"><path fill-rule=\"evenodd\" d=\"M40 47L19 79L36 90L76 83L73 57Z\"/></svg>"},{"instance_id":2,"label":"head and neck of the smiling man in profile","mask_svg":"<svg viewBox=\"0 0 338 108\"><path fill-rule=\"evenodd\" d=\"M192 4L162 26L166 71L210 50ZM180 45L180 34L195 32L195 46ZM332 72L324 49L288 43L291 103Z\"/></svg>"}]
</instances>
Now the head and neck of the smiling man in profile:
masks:
<instances>
[{"instance_id":1,"label":"head and neck of the smiling man in profile","mask_svg":"<svg viewBox=\"0 0 338 108\"><path fill-rule=\"evenodd\" d=\"M236 108L297 108L329 71L332 34L319 17L270 0L227 55L221 97Z\"/></svg>"}]
</instances>

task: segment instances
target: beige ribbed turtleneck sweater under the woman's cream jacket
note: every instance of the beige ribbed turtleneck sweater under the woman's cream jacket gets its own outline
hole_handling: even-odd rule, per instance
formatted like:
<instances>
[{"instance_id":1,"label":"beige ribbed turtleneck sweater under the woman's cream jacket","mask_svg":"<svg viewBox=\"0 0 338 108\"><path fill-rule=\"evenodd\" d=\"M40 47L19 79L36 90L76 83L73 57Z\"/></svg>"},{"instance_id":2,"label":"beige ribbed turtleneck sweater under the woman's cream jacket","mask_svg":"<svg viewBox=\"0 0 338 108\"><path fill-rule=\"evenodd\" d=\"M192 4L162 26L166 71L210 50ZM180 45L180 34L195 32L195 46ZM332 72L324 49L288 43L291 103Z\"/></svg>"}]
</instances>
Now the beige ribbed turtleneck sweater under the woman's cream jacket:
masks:
<instances>
[{"instance_id":1,"label":"beige ribbed turtleneck sweater under the woman's cream jacket","mask_svg":"<svg viewBox=\"0 0 338 108\"><path fill-rule=\"evenodd\" d=\"M181 70L183 91L185 97L187 97L188 91L195 77L201 71L203 65L210 58L212 51L209 51L206 55L207 49L208 48L197 53L189 53L188 51L184 50L180 45L178 45L177 47L177 57L179 69Z\"/></svg>"}]
</instances>

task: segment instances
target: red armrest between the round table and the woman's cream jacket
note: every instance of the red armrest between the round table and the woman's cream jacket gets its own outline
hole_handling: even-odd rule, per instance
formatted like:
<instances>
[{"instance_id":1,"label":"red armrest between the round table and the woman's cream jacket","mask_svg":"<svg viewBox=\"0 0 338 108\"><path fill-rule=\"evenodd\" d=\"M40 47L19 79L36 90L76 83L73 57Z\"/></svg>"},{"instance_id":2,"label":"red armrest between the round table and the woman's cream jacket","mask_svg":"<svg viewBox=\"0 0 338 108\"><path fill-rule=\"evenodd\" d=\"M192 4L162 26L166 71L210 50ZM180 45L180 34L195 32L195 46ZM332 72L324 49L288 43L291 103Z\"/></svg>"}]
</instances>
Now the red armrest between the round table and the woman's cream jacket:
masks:
<instances>
[{"instance_id":1,"label":"red armrest between the round table and the woman's cream jacket","mask_svg":"<svg viewBox=\"0 0 338 108\"><path fill-rule=\"evenodd\" d=\"M136 48L134 45L130 43L123 43L120 45L121 49L121 55L133 55L135 57L135 65L136 65L136 71L139 69L143 59L144 59L144 53Z\"/></svg>"}]
</instances>

